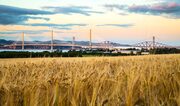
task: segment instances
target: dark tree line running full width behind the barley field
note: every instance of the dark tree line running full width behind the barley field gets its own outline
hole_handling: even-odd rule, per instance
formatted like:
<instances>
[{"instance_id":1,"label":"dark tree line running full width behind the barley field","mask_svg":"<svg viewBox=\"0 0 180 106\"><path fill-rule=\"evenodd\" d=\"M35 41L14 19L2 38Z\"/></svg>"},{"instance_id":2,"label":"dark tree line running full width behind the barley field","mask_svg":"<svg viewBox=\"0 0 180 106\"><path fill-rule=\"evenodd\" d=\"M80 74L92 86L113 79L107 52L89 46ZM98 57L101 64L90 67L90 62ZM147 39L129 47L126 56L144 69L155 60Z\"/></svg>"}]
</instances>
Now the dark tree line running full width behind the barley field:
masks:
<instances>
[{"instance_id":1,"label":"dark tree line running full width behind the barley field","mask_svg":"<svg viewBox=\"0 0 180 106\"><path fill-rule=\"evenodd\" d=\"M133 49L134 50L134 49ZM175 54L180 53L180 49L176 48L155 48L150 50L138 51L136 54L133 52L129 54L125 53L112 53L112 51L92 50L92 51L54 51L54 52L12 52L4 51L0 52L0 58L34 58L34 57L84 57L84 56L129 56L129 55L141 55L141 52L149 52L150 54Z\"/></svg>"}]
</instances>

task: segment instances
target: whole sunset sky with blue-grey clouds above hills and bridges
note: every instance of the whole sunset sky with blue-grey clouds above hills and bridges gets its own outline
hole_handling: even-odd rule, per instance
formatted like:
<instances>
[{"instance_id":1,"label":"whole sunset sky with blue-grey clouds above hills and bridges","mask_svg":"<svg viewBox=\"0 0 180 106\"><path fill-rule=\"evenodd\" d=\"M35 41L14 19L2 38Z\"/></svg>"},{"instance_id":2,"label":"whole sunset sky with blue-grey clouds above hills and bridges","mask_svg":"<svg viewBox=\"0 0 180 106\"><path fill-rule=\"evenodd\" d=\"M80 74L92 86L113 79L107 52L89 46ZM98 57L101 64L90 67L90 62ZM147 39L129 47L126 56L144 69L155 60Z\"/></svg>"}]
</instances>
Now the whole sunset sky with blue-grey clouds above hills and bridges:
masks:
<instances>
[{"instance_id":1,"label":"whole sunset sky with blue-grey clouds above hills and bridges","mask_svg":"<svg viewBox=\"0 0 180 106\"><path fill-rule=\"evenodd\" d=\"M0 0L0 39L180 46L180 0Z\"/></svg>"}]
</instances>

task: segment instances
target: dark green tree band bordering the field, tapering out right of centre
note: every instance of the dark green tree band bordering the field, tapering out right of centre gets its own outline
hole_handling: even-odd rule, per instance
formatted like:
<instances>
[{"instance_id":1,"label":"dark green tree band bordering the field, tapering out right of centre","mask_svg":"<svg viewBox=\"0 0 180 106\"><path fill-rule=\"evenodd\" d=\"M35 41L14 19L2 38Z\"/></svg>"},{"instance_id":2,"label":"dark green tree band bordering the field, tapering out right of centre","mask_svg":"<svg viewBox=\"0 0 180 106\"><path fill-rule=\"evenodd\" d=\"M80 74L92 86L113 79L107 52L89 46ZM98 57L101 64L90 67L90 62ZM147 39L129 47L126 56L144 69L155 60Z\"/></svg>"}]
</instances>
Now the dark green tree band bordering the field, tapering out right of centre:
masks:
<instances>
[{"instance_id":1,"label":"dark green tree band bordering the field, tapering out right of centre","mask_svg":"<svg viewBox=\"0 0 180 106\"><path fill-rule=\"evenodd\" d=\"M33 57L82 57L82 56L128 56L134 54L111 53L111 51L54 51L54 52L0 52L0 58L33 58Z\"/></svg>"}]
</instances>

